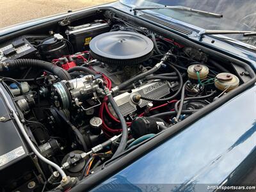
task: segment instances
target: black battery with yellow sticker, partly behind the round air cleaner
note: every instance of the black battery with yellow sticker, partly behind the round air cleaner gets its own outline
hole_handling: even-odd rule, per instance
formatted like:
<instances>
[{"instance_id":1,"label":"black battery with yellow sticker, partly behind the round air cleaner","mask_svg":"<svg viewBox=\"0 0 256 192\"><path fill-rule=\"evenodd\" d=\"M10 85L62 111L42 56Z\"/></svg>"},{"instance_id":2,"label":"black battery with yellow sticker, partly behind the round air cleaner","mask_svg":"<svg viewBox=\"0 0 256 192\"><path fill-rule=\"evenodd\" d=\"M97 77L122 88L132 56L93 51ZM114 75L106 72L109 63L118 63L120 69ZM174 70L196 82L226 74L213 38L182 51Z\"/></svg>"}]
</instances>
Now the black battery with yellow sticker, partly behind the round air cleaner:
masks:
<instances>
[{"instance_id":1,"label":"black battery with yellow sticker, partly behind the round air cleaner","mask_svg":"<svg viewBox=\"0 0 256 192\"><path fill-rule=\"evenodd\" d=\"M70 43L74 46L75 52L89 49L90 41L93 37L106 33L110 30L108 22L104 20L94 20L94 22L81 26L68 26L66 35Z\"/></svg>"}]
</instances>

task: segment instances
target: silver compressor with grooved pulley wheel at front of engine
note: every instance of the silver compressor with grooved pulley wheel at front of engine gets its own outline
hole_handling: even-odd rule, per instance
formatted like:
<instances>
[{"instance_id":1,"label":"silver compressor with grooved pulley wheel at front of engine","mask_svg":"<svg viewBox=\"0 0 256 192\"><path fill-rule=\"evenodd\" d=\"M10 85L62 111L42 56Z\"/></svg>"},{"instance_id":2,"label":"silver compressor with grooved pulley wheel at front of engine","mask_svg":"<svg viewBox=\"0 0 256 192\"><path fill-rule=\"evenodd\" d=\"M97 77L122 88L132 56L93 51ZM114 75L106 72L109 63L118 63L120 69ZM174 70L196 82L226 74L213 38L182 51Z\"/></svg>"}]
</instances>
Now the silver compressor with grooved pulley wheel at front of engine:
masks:
<instances>
[{"instance_id":1,"label":"silver compressor with grooved pulley wheel at front of engine","mask_svg":"<svg viewBox=\"0 0 256 192\"><path fill-rule=\"evenodd\" d=\"M103 95L102 83L100 75L60 81L52 84L51 99L57 108L70 109L71 106L78 106L86 111L101 104L99 97Z\"/></svg>"}]
</instances>

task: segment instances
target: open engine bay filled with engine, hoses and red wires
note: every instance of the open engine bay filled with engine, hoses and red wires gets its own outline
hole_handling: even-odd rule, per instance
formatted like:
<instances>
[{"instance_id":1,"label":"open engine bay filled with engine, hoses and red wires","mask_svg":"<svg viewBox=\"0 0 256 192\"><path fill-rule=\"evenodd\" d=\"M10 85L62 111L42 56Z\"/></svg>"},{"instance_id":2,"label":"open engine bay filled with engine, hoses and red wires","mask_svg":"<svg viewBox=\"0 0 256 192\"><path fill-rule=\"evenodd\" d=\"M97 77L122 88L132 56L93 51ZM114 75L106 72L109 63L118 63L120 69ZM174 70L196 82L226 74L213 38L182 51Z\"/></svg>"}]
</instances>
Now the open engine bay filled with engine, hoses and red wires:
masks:
<instances>
[{"instance_id":1,"label":"open engine bay filled with engine, hoses and red wires","mask_svg":"<svg viewBox=\"0 0 256 192\"><path fill-rule=\"evenodd\" d=\"M106 15L0 44L1 89L36 150L68 178L39 157L5 191L72 188L250 79L236 63Z\"/></svg>"}]
</instances>

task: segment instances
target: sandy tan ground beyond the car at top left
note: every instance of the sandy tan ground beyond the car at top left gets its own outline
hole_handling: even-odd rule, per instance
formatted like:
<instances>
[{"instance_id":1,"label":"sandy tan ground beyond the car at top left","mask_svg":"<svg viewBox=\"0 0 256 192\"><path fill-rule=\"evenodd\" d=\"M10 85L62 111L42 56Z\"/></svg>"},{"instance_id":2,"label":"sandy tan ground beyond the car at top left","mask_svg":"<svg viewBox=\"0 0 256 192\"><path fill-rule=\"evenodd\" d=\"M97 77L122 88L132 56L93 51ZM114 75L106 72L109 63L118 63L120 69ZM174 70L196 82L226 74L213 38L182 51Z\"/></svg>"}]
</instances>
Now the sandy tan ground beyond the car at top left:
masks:
<instances>
[{"instance_id":1,"label":"sandy tan ground beyond the car at top left","mask_svg":"<svg viewBox=\"0 0 256 192\"><path fill-rule=\"evenodd\" d=\"M0 0L0 28L113 0Z\"/></svg>"}]
</instances>

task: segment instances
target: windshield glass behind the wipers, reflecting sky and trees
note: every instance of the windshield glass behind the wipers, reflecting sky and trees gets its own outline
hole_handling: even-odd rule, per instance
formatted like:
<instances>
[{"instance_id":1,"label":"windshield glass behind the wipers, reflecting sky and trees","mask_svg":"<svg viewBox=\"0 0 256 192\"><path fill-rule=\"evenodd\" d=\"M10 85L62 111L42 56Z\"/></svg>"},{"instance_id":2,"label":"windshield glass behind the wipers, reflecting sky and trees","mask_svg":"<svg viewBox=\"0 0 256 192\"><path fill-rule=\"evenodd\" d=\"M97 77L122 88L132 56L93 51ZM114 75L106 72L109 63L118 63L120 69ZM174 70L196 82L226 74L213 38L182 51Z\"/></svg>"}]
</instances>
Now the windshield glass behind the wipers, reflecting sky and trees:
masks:
<instances>
[{"instance_id":1,"label":"windshield glass behind the wipers, reflecting sky and trees","mask_svg":"<svg viewBox=\"0 0 256 192\"><path fill-rule=\"evenodd\" d=\"M255 0L120 0L129 6L188 6L196 10L222 14L211 17L184 10L151 10L204 29L256 31ZM256 45L256 36L226 35Z\"/></svg>"}]
</instances>

